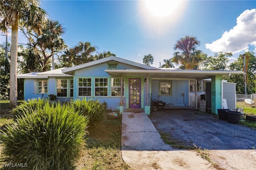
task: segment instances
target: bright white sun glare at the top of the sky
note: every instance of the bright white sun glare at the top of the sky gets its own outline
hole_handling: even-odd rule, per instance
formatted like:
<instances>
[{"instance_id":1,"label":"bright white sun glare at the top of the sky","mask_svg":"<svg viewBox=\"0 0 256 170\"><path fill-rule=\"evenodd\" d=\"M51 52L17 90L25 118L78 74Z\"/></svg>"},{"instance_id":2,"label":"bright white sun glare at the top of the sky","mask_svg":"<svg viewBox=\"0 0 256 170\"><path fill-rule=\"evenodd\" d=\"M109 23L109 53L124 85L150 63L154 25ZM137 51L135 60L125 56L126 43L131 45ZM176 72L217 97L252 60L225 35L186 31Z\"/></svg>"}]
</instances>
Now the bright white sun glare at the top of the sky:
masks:
<instances>
[{"instance_id":1,"label":"bright white sun glare at the top of the sky","mask_svg":"<svg viewBox=\"0 0 256 170\"><path fill-rule=\"evenodd\" d=\"M146 8L153 16L165 17L174 12L179 4L179 0L147 0L145 1Z\"/></svg>"}]
</instances>

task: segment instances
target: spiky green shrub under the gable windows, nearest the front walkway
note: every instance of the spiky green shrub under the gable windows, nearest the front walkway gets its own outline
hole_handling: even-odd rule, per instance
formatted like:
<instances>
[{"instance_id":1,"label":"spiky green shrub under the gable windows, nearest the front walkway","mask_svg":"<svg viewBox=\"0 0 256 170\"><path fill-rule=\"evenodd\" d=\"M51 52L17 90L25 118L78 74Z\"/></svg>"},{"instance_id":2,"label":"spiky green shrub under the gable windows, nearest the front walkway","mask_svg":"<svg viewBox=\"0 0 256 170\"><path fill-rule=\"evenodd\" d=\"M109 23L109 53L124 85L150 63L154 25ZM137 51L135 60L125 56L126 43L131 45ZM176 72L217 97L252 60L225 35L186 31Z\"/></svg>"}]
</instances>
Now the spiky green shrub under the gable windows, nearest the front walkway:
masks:
<instances>
[{"instance_id":1,"label":"spiky green shrub under the gable windows, nearest the front walkway","mask_svg":"<svg viewBox=\"0 0 256 170\"><path fill-rule=\"evenodd\" d=\"M104 118L106 106L100 103L99 100L74 100L70 102L70 107L74 107L76 111L80 111L83 116L89 118L89 125L95 125L96 122Z\"/></svg>"}]
</instances>

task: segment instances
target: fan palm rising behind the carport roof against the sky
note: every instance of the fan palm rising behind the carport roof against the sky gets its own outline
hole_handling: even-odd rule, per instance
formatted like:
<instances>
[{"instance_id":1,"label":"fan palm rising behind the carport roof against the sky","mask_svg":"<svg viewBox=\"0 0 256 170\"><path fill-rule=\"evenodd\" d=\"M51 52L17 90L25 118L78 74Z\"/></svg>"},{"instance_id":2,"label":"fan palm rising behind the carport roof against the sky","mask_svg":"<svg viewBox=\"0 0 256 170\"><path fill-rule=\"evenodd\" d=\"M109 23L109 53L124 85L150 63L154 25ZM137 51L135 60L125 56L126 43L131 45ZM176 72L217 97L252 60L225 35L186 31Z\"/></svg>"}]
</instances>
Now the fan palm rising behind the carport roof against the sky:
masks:
<instances>
[{"instance_id":1,"label":"fan palm rising behind the carport roof against the sky","mask_svg":"<svg viewBox=\"0 0 256 170\"><path fill-rule=\"evenodd\" d=\"M198 68L198 63L201 61L201 50L197 50L200 41L196 37L186 35L184 38L178 39L174 45L174 57L172 62L181 64L185 69L192 70ZM181 67L181 68L182 68Z\"/></svg>"}]
</instances>

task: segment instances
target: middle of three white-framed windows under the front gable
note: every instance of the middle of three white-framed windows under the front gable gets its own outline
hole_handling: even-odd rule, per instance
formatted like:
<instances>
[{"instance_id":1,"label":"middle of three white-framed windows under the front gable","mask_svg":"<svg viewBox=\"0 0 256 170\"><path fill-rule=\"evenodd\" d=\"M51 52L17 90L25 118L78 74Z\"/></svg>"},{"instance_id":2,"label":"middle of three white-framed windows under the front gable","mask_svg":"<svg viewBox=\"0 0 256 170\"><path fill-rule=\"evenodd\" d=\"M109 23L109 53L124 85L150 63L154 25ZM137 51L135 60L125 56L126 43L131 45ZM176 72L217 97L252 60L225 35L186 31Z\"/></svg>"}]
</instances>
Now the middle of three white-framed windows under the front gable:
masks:
<instances>
[{"instance_id":1,"label":"middle of three white-framed windows under the front gable","mask_svg":"<svg viewBox=\"0 0 256 170\"><path fill-rule=\"evenodd\" d=\"M95 96L108 96L108 78L95 78Z\"/></svg>"}]
</instances>

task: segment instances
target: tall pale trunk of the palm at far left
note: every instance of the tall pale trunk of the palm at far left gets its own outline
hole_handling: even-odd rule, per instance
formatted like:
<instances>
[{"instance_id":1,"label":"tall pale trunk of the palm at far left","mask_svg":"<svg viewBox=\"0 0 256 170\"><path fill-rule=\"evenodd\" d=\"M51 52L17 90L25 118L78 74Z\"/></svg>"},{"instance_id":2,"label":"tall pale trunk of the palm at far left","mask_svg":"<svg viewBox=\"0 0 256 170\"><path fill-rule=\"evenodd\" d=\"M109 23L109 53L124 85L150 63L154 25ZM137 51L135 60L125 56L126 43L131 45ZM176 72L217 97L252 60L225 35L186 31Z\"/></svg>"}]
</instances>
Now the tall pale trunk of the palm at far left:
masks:
<instances>
[{"instance_id":1,"label":"tall pale trunk of the palm at far left","mask_svg":"<svg viewBox=\"0 0 256 170\"><path fill-rule=\"evenodd\" d=\"M18 58L18 21L12 25L11 60L10 60L10 104L9 109L16 107L17 102L17 58Z\"/></svg>"}]
</instances>

